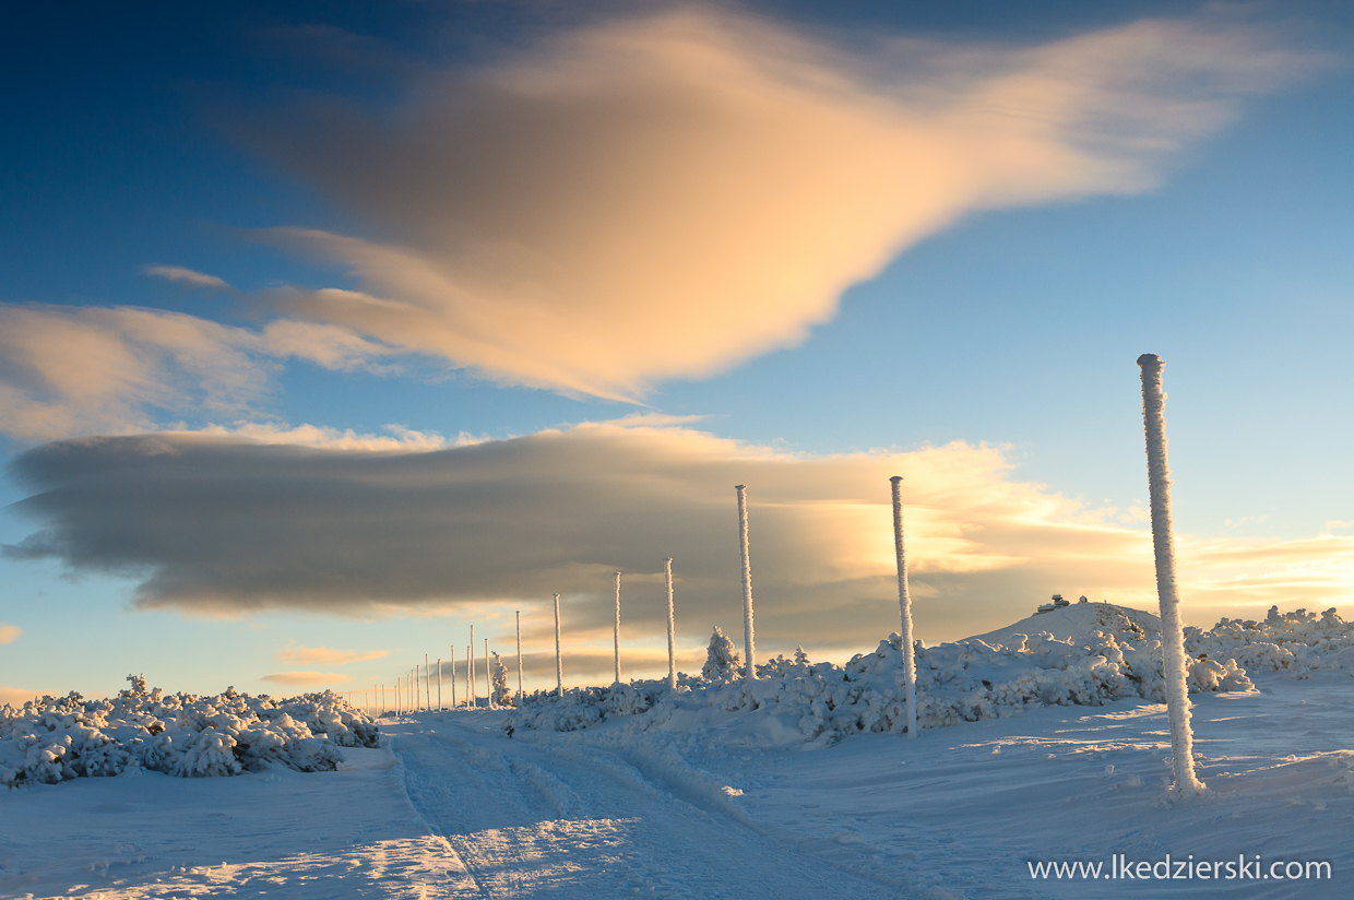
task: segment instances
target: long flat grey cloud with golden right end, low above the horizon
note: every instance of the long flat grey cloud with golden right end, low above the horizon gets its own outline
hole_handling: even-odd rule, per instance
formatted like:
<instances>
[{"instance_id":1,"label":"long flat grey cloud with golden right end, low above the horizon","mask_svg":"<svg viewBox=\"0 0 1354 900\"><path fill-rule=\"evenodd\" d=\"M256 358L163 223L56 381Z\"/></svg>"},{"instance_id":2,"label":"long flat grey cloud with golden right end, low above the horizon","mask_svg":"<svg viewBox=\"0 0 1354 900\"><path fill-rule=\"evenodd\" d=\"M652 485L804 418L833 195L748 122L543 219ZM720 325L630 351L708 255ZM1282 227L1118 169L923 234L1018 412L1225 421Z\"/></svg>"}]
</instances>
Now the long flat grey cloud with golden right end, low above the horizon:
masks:
<instances>
[{"instance_id":1,"label":"long flat grey cloud with golden right end, low above the horizon","mask_svg":"<svg viewBox=\"0 0 1354 900\"><path fill-rule=\"evenodd\" d=\"M888 478L906 476L909 558L927 640L1021 618L1055 591L1155 605L1148 532L1013 478L999 448L808 456L642 420L425 452L156 434L49 444L11 474L39 529L11 558L137 579L135 605L203 614L523 610L529 650L662 642L676 559L685 643L741 621L735 483L749 485L753 593L769 650L860 646L896 628ZM1182 595L1217 610L1327 602L1354 585L1354 537L1182 535Z\"/></svg>"}]
</instances>

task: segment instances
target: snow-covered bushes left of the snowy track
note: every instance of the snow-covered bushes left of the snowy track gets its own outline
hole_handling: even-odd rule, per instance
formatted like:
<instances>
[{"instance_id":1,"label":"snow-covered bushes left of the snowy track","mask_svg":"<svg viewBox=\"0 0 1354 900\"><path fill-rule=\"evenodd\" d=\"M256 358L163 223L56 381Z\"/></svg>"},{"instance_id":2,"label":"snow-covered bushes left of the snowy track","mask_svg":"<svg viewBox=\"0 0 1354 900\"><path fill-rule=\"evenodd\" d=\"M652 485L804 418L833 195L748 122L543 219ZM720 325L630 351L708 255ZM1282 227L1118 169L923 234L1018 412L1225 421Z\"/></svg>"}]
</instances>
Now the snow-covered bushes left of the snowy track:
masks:
<instances>
[{"instance_id":1,"label":"snow-covered bushes left of the snowy track","mask_svg":"<svg viewBox=\"0 0 1354 900\"><path fill-rule=\"evenodd\" d=\"M179 777L237 775L276 762L332 770L338 747L375 747L376 725L337 694L287 700L227 689L215 697L131 686L111 700L72 692L0 706L0 785L56 784L146 769Z\"/></svg>"}]
</instances>

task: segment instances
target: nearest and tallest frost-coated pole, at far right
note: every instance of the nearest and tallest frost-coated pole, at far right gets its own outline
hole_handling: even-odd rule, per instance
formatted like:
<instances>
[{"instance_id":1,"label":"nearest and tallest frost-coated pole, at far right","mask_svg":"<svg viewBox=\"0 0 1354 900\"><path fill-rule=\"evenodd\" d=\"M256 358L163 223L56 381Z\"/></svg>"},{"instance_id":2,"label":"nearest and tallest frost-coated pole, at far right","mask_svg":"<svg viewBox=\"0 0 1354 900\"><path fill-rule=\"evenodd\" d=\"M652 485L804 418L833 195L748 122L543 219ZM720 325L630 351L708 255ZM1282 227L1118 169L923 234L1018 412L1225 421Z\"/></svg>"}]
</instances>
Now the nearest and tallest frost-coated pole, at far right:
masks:
<instances>
[{"instance_id":1,"label":"nearest and tallest frost-coated pole, at far right","mask_svg":"<svg viewBox=\"0 0 1354 900\"><path fill-rule=\"evenodd\" d=\"M1143 371L1143 422L1147 428L1147 486L1152 506L1152 551L1156 556L1156 595L1162 613L1162 655L1166 709L1171 723L1171 763L1175 793L1198 794L1204 782L1194 774L1194 734L1190 729L1189 688L1185 682L1185 631L1175 591L1175 540L1171 535L1171 471L1166 462L1164 363L1155 353L1137 357Z\"/></svg>"}]
</instances>

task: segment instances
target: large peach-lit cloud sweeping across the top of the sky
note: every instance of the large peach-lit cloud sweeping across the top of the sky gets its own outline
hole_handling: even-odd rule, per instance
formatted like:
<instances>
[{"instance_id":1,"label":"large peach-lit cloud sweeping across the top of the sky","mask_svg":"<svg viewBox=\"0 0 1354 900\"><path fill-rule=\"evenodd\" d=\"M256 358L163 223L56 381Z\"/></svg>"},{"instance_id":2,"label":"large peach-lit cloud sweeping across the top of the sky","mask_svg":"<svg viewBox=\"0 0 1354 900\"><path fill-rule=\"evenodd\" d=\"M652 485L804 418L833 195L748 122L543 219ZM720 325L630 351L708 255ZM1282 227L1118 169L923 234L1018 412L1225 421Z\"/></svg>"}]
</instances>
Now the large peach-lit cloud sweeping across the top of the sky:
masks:
<instances>
[{"instance_id":1,"label":"large peach-lit cloud sweeping across the top of the sky","mask_svg":"<svg viewBox=\"0 0 1354 900\"><path fill-rule=\"evenodd\" d=\"M269 302L505 383L640 398L803 341L968 214L1150 189L1239 99L1320 64L1219 16L861 45L688 9L410 76L394 107L253 111L248 146L371 227L272 230L360 290Z\"/></svg>"}]
</instances>

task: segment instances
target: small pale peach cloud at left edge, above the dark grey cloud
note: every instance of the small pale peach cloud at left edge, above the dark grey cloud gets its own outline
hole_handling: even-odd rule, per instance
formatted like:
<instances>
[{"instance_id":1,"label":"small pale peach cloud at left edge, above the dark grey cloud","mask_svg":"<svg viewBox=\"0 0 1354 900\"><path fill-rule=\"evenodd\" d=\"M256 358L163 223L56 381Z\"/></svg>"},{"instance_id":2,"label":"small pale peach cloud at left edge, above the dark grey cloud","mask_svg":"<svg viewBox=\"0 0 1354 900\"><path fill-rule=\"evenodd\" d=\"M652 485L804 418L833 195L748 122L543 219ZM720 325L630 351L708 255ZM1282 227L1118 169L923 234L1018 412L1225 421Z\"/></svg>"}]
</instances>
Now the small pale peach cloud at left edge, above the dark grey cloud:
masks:
<instances>
[{"instance_id":1,"label":"small pale peach cloud at left edge, above the dark grey cloud","mask_svg":"<svg viewBox=\"0 0 1354 900\"><path fill-rule=\"evenodd\" d=\"M333 325L261 330L139 307L0 305L0 433L145 432L164 415L250 414L279 361L371 368L391 349Z\"/></svg>"}]
</instances>

